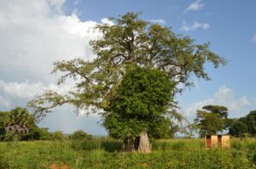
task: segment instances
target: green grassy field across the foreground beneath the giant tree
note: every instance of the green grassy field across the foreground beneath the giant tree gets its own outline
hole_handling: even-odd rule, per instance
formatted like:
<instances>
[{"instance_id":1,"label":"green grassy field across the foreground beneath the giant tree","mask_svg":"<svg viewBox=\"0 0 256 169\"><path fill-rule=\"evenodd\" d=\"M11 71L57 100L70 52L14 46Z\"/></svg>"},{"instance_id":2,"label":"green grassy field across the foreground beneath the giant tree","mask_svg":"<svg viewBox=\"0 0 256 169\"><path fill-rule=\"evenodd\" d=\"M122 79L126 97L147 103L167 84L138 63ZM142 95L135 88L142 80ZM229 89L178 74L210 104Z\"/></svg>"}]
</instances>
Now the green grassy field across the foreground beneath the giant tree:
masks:
<instances>
[{"instance_id":1,"label":"green grassy field across the foreground beneath the giant tree","mask_svg":"<svg viewBox=\"0 0 256 169\"><path fill-rule=\"evenodd\" d=\"M0 168L256 168L256 139L231 139L231 149L206 149L202 139L152 143L152 153L125 153L113 139L0 143Z\"/></svg>"}]
</instances>

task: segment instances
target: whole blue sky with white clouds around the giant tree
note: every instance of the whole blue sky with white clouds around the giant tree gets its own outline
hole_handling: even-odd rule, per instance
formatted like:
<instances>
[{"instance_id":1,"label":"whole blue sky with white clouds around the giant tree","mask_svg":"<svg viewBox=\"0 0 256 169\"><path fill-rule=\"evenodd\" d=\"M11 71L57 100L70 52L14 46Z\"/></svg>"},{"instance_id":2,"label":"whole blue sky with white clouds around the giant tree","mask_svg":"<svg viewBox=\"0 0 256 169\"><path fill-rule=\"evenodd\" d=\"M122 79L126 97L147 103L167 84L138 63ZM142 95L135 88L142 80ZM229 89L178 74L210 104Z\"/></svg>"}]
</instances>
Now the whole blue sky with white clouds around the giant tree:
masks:
<instances>
[{"instance_id":1,"label":"whole blue sky with white clouds around the giant tree","mask_svg":"<svg viewBox=\"0 0 256 169\"><path fill-rule=\"evenodd\" d=\"M229 109L229 117L256 110L256 1L247 0L0 0L0 110L12 110L44 90L66 93L72 82L57 86L53 63L73 58L93 59L90 40L100 36L96 24L127 12L171 27L176 34L211 42L211 50L228 60L212 78L191 77L195 87L177 94L180 111L189 121L204 105ZM79 115L71 105L53 110L40 127L71 133L82 129L105 135L98 115Z\"/></svg>"}]
</instances>

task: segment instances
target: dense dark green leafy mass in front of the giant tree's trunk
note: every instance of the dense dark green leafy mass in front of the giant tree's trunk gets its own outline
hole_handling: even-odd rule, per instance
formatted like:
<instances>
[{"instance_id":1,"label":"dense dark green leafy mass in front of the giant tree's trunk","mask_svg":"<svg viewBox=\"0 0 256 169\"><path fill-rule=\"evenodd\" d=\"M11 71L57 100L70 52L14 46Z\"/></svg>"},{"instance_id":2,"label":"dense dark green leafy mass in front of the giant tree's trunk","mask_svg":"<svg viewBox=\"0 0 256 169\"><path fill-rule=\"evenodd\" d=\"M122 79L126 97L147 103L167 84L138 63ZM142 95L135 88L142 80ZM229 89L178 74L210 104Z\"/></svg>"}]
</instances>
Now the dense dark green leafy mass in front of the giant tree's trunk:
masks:
<instances>
[{"instance_id":1,"label":"dense dark green leafy mass in front of the giant tree's trunk","mask_svg":"<svg viewBox=\"0 0 256 169\"><path fill-rule=\"evenodd\" d=\"M172 91L172 82L160 70L127 71L111 96L104 127L113 138L136 137L143 131L154 137L164 135L171 124L166 115Z\"/></svg>"}]
</instances>

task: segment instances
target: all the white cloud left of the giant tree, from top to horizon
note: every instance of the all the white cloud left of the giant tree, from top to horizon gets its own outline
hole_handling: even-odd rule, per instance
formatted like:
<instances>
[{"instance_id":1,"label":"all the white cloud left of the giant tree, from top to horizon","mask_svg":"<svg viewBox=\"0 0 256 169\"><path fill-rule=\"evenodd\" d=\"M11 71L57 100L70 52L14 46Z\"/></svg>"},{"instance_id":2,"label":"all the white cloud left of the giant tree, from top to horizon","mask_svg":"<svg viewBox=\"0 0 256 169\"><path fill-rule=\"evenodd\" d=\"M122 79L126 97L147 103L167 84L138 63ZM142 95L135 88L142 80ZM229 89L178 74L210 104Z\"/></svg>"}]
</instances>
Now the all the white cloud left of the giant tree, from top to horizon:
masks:
<instances>
[{"instance_id":1,"label":"all the white cloud left of the giant tree, from top to horizon","mask_svg":"<svg viewBox=\"0 0 256 169\"><path fill-rule=\"evenodd\" d=\"M0 1L0 110L26 106L28 100L45 89L66 93L72 82L56 86L56 77L49 75L53 63L95 57L90 51L89 41L101 36L92 30L101 23L80 20L77 10L65 14L64 4L65 0ZM84 117L79 117L77 124L73 108L56 111L60 113L48 115L45 119L47 126L44 127L51 131L58 129L55 124L67 124L70 119L73 119L73 124L68 127L73 129L81 129L86 123ZM63 113L68 115L64 117ZM92 133L106 133L95 120L89 119L87 123ZM69 132L67 126L61 130Z\"/></svg>"}]
</instances>

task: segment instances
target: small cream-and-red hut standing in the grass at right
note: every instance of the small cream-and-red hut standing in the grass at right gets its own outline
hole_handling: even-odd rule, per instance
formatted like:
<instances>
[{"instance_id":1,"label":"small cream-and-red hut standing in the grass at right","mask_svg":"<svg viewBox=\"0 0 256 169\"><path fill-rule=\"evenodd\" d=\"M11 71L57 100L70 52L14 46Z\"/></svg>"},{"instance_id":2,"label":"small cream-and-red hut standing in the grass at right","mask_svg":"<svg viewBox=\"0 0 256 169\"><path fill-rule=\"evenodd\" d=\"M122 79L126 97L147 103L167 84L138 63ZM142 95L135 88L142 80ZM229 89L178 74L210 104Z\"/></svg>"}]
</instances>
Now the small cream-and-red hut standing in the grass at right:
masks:
<instances>
[{"instance_id":1,"label":"small cream-and-red hut standing in the grass at right","mask_svg":"<svg viewBox=\"0 0 256 169\"><path fill-rule=\"evenodd\" d=\"M227 148L230 149L230 136L229 135L206 135L207 148Z\"/></svg>"}]
</instances>

